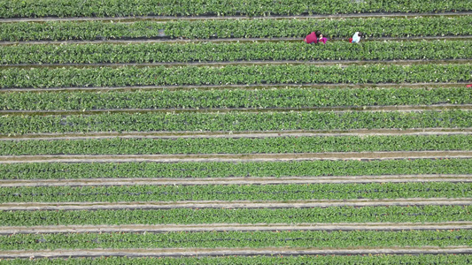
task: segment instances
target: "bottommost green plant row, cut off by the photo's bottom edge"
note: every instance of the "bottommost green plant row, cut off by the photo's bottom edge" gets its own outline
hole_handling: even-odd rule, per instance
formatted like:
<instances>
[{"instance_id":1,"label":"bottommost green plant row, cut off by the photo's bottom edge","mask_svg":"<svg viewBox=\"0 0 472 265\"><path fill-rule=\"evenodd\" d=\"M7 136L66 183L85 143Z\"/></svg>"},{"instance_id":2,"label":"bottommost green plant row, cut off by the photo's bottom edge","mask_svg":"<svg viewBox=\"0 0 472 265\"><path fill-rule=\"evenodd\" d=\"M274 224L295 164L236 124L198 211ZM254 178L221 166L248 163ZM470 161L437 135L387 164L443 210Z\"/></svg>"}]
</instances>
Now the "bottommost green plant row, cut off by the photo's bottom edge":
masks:
<instances>
[{"instance_id":1,"label":"bottommost green plant row, cut off by the photo's bottom edge","mask_svg":"<svg viewBox=\"0 0 472 265\"><path fill-rule=\"evenodd\" d=\"M41 258L35 260L27 259L11 259L0 260L2 265L44 265L44 264L65 264L65 265L82 265L82 264L132 264L132 265L150 265L150 264L166 264L166 265L193 265L193 264L218 264L218 265L234 265L234 264L339 264L339 265L377 265L377 264L468 264L472 262L472 255L469 254L420 254L420 255L299 255L299 256L221 256L221 257L180 257L180 258L129 258L129 257L100 257L100 258L68 258L68 259L50 259Z\"/></svg>"}]
</instances>

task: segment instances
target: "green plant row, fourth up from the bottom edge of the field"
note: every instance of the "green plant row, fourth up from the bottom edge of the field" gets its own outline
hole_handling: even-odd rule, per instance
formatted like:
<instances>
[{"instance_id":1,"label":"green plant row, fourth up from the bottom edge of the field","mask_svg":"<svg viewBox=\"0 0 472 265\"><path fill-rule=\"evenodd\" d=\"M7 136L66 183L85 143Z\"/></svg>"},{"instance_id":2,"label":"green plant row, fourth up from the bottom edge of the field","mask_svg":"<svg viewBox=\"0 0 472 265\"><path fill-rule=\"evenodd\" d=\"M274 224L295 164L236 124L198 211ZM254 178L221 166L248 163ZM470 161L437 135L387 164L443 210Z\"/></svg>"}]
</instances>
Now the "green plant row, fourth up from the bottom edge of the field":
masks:
<instances>
[{"instance_id":1,"label":"green plant row, fourth up from the bottom edge of the field","mask_svg":"<svg viewBox=\"0 0 472 265\"><path fill-rule=\"evenodd\" d=\"M472 183L0 187L0 202L291 201L445 197L472 197Z\"/></svg>"}]
</instances>

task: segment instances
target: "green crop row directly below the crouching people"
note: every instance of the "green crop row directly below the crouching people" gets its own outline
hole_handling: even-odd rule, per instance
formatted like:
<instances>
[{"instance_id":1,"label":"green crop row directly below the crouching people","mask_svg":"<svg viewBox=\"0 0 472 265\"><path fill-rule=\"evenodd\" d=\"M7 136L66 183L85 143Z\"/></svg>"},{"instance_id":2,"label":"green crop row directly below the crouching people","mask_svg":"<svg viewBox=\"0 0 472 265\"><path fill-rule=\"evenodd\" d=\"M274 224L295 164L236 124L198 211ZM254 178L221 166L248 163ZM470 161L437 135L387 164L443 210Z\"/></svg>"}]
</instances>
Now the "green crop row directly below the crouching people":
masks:
<instances>
[{"instance_id":1,"label":"green crop row directly below the crouching people","mask_svg":"<svg viewBox=\"0 0 472 265\"><path fill-rule=\"evenodd\" d=\"M251 60L468 59L472 42L196 42L19 44L0 49L0 64L232 62Z\"/></svg>"}]
</instances>

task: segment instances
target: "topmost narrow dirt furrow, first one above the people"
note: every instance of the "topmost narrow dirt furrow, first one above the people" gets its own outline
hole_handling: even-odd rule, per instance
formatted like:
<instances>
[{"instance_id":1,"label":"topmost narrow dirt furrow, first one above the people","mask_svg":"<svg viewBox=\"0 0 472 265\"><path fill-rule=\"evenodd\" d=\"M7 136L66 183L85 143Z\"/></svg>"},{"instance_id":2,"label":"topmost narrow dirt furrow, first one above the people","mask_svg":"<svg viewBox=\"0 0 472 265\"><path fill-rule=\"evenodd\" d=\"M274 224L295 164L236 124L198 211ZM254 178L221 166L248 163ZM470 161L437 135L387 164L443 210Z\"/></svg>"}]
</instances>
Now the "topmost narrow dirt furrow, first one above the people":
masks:
<instances>
[{"instance_id":1,"label":"topmost narrow dirt furrow, first one above the people","mask_svg":"<svg viewBox=\"0 0 472 265\"><path fill-rule=\"evenodd\" d=\"M468 16L472 15L470 11L457 11L457 12L414 12L414 13L355 13L355 14L332 14L332 15L269 15L265 17L255 16L214 16L214 15L205 15L205 16L192 16L192 17L175 17L175 16L135 16L135 17L68 17L68 18L57 18L57 17L43 17L43 18L12 18L12 19L0 19L0 23L7 22L46 22L46 21L110 21L113 22L128 22L128 21L168 21L168 20L226 20L226 19L362 19L362 18L378 18L378 17L387 17L387 18L414 18L414 17L457 17L457 16Z\"/></svg>"}]
</instances>

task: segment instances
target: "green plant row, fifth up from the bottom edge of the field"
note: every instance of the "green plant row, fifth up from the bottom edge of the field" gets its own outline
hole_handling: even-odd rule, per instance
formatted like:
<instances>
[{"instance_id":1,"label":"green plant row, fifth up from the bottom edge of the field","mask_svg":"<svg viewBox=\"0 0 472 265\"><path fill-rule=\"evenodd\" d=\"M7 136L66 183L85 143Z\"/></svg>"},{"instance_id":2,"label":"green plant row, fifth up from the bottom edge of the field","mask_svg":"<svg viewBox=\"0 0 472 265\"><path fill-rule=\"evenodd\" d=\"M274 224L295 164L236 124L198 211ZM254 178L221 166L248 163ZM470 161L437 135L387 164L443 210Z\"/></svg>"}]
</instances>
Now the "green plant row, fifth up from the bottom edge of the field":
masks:
<instances>
[{"instance_id":1,"label":"green plant row, fifth up from the bottom edge of the field","mask_svg":"<svg viewBox=\"0 0 472 265\"><path fill-rule=\"evenodd\" d=\"M316 177L470 174L472 159L372 161L0 163L3 179Z\"/></svg>"}]
</instances>

